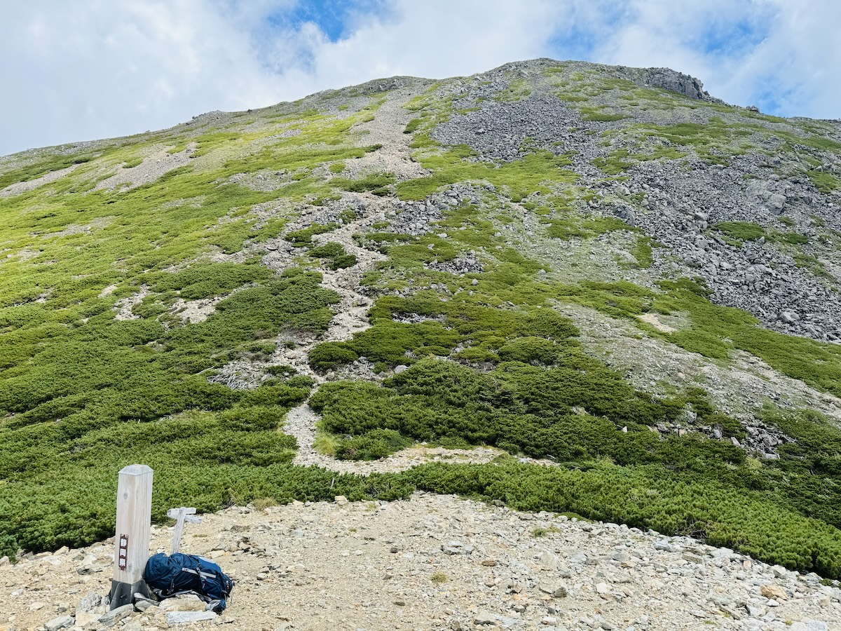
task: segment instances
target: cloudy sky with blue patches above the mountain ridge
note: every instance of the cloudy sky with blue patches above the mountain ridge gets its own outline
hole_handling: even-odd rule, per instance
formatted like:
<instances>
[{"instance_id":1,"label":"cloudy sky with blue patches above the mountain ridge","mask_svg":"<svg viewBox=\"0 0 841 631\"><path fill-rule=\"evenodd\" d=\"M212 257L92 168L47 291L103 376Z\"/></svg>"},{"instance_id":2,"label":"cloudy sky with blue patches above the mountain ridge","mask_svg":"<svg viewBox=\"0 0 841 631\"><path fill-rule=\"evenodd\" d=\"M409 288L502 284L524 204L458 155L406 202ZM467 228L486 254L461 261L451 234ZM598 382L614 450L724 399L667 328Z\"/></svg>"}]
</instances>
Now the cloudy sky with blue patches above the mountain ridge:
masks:
<instances>
[{"instance_id":1,"label":"cloudy sky with blue patches above the mountain ridge","mask_svg":"<svg viewBox=\"0 0 841 631\"><path fill-rule=\"evenodd\" d=\"M0 12L0 155L378 77L553 57L669 66L841 118L838 0L29 0Z\"/></svg>"}]
</instances>

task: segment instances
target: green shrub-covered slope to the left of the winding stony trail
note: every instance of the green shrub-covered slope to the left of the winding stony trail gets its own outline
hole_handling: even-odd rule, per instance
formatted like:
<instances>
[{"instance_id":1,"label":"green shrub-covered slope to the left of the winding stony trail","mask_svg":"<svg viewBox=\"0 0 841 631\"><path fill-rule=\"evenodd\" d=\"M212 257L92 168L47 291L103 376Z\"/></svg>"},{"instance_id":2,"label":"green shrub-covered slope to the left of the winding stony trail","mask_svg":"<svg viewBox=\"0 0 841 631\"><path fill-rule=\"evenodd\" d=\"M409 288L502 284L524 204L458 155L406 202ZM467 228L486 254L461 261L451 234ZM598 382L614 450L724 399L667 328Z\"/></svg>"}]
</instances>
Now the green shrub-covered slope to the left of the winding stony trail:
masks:
<instances>
[{"instance_id":1,"label":"green shrub-covered slope to the left of the winding stony trail","mask_svg":"<svg viewBox=\"0 0 841 631\"><path fill-rule=\"evenodd\" d=\"M294 440L278 432L309 382L241 393L209 380L232 360L269 358L282 332L324 331L339 298L318 273L263 267L259 244L294 219L294 204L335 194L317 167L377 148L356 146L354 116L293 118L279 121L299 132L288 137L271 121L248 133L171 130L5 172L15 182L77 165L0 199L0 532L11 552L106 536L116 471L139 459L157 472L156 518L173 501L209 510L261 485L283 489L287 476L319 478L290 474ZM127 191L93 190L111 165L167 142L172 152L192 143L199 157ZM234 181L265 169L296 177L271 191ZM277 216L251 211L268 202ZM245 262L209 262L245 247ZM133 319L116 320L135 294ZM217 297L206 321L172 315L177 299Z\"/></svg>"}]
</instances>

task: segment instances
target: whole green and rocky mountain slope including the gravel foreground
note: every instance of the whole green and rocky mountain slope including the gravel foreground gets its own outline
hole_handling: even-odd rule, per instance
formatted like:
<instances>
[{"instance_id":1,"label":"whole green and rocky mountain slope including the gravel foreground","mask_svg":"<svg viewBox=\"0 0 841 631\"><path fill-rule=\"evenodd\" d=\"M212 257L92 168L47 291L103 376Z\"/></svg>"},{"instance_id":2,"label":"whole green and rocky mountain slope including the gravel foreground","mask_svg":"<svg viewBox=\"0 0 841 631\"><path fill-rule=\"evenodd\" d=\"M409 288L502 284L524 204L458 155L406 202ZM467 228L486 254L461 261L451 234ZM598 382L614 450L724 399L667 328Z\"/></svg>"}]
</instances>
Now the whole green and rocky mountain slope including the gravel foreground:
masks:
<instances>
[{"instance_id":1,"label":"whole green and rocky mountain slope including the gravel foreground","mask_svg":"<svg viewBox=\"0 0 841 631\"><path fill-rule=\"evenodd\" d=\"M0 158L0 630L841 628L841 121L391 77ZM237 581L109 611L151 552Z\"/></svg>"}]
</instances>

